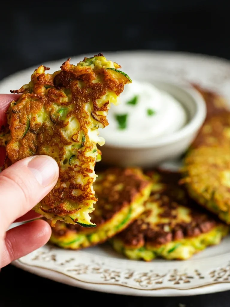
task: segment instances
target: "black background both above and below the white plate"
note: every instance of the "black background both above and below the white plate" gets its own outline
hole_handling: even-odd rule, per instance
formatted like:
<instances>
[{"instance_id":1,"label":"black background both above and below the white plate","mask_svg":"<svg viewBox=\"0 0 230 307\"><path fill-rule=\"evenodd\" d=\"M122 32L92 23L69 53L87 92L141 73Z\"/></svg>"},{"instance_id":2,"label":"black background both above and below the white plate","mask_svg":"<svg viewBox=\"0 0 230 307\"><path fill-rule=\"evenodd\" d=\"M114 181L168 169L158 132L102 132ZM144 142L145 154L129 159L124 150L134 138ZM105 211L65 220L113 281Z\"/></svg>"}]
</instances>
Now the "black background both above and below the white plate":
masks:
<instances>
[{"instance_id":1,"label":"black background both above and below the white plate","mask_svg":"<svg viewBox=\"0 0 230 307\"><path fill-rule=\"evenodd\" d=\"M229 1L5 1L1 8L0 80L42 62L94 51L171 50L230 59ZM82 296L102 306L230 305L230 292L124 297L71 288L13 266L2 269L0 282L0 307L80 306Z\"/></svg>"}]
</instances>

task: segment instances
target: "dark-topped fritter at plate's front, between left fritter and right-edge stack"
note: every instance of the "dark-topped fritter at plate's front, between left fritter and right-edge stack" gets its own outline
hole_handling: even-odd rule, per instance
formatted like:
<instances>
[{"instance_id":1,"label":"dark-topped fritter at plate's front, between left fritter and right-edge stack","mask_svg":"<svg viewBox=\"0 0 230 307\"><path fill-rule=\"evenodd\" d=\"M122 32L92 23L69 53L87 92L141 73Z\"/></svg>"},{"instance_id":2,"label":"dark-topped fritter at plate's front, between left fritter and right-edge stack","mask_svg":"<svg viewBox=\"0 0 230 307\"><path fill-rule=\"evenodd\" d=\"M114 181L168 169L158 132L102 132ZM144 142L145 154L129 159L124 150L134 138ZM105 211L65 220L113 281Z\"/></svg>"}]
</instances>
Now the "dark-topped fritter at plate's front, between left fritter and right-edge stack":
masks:
<instances>
[{"instance_id":1,"label":"dark-topped fritter at plate's front, between left fritter and right-edge stack","mask_svg":"<svg viewBox=\"0 0 230 307\"><path fill-rule=\"evenodd\" d=\"M179 174L149 173L155 181L144 213L111 239L114 249L130 259L188 259L220 243L228 226L195 206L177 182Z\"/></svg>"}]
</instances>

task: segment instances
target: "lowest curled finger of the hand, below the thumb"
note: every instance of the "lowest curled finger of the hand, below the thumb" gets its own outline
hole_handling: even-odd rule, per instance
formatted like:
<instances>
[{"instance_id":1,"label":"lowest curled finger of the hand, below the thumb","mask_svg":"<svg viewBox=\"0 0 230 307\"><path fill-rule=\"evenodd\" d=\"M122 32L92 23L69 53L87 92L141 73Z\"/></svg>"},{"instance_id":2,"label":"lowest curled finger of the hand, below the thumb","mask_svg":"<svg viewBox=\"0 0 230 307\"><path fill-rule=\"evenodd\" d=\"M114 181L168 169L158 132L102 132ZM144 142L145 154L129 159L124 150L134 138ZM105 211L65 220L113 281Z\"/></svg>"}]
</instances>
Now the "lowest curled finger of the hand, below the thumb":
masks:
<instances>
[{"instance_id":1,"label":"lowest curled finger of the hand, below the thumb","mask_svg":"<svg viewBox=\"0 0 230 307\"><path fill-rule=\"evenodd\" d=\"M48 242L51 227L44 220L32 221L6 232L2 249L1 266L25 256Z\"/></svg>"}]
</instances>

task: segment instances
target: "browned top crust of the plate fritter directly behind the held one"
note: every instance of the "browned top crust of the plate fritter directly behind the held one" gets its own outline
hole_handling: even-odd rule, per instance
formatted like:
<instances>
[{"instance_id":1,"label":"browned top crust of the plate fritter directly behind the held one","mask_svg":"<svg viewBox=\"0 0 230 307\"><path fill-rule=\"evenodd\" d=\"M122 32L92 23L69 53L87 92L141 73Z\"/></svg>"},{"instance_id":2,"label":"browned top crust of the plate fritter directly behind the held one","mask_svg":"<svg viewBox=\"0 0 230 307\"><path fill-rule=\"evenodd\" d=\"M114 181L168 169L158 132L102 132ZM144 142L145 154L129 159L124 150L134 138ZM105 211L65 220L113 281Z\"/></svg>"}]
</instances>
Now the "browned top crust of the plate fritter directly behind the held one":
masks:
<instances>
[{"instance_id":1,"label":"browned top crust of the plate fritter directly behind the held one","mask_svg":"<svg viewBox=\"0 0 230 307\"><path fill-rule=\"evenodd\" d=\"M102 175L102 177L100 177ZM80 225L56 223L53 229L55 236L63 236L68 229L71 231L90 233L98 230L98 227L109 223L113 217L123 208L130 206L138 195L150 184L149 180L136 169L110 168L99 173L99 178L94 183L95 196L98 198L95 210L90 214L92 223L97 228L83 228ZM123 188L119 190L119 187ZM60 226L65 225L63 229Z\"/></svg>"}]
</instances>

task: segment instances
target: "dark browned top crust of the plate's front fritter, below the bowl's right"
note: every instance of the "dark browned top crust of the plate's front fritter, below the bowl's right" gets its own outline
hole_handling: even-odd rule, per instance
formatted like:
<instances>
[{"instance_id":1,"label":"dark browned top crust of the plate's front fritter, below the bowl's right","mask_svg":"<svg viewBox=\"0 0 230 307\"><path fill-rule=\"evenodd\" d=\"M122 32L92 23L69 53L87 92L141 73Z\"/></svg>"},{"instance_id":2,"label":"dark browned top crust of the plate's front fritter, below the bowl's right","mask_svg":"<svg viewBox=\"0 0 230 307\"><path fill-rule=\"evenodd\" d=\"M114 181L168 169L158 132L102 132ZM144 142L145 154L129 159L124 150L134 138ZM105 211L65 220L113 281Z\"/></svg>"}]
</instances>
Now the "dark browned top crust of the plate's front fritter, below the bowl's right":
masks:
<instances>
[{"instance_id":1,"label":"dark browned top crust of the plate's front fritter, below the bowl's right","mask_svg":"<svg viewBox=\"0 0 230 307\"><path fill-rule=\"evenodd\" d=\"M153 174L152 171L148 172L151 177ZM145 211L139 219L118 235L118 238L127 247L137 248L144 246L146 243L152 246L160 246L173 240L196 237L201 233L210 231L219 223L212 215L208 215L203 209L198 209L186 190L178 186L179 173L160 171L160 176L159 182L163 183L163 187L152 193L148 202L158 202L159 206L163 208L160 216L170 218L170 222L158 223L153 226L145 221L145 217L148 217L151 211ZM190 223L174 222L177 217L175 209L179 205L185 205L192 209ZM171 230L165 231L165 226L169 226Z\"/></svg>"}]
</instances>

